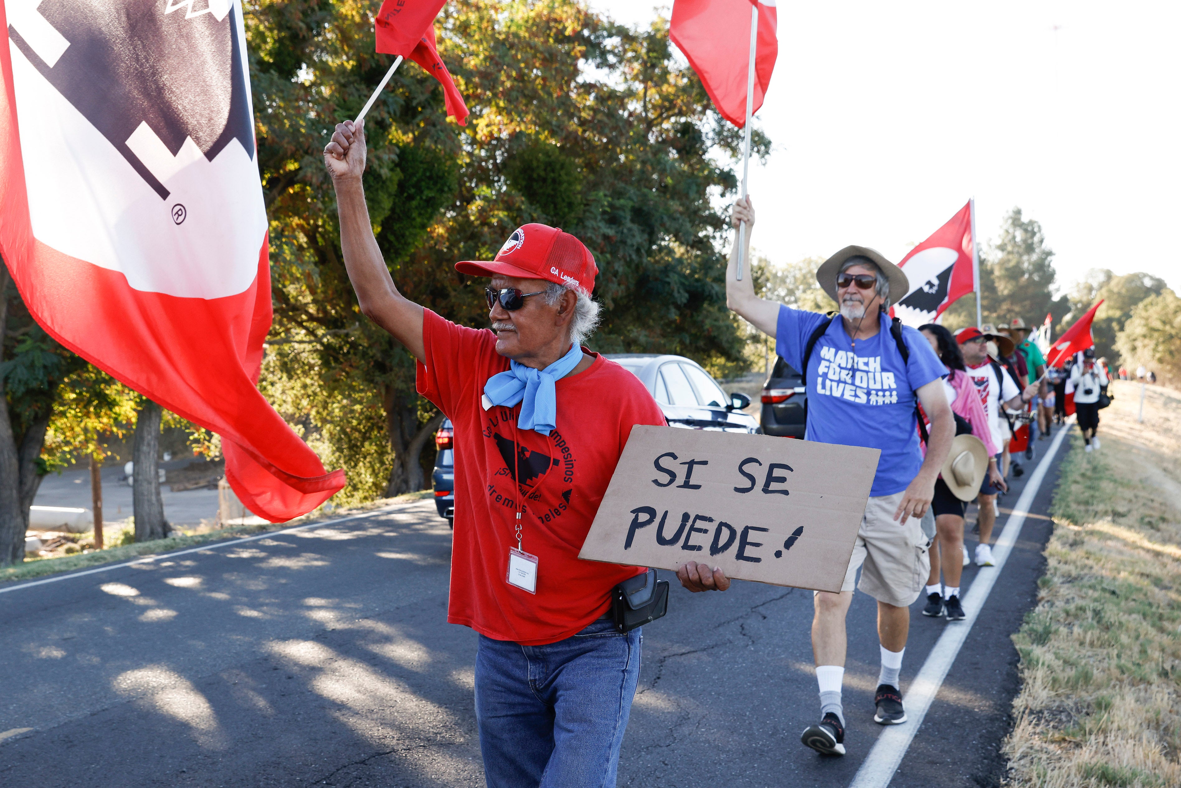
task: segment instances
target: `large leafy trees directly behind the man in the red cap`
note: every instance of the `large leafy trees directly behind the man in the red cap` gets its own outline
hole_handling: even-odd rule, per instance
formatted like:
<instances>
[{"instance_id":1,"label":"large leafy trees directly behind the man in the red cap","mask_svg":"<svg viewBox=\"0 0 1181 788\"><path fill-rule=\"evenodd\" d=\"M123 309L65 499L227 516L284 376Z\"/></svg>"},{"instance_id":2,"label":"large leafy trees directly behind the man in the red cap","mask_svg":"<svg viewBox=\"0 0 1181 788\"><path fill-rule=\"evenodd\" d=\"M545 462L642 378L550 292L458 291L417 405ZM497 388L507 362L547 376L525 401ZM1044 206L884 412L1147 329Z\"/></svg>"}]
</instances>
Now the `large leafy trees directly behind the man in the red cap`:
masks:
<instances>
[{"instance_id":1,"label":"large leafy trees directly behind the man in the red cap","mask_svg":"<svg viewBox=\"0 0 1181 788\"><path fill-rule=\"evenodd\" d=\"M345 500L420 487L441 419L415 391L413 359L357 308L320 162L332 124L389 64L373 54L370 11L263 0L247 22L274 266L262 389L328 464L348 468ZM560 224L600 268L595 350L740 359L711 202L736 185L717 159L740 138L672 58L667 22L635 31L570 0L465 0L444 12L439 48L472 111L465 128L413 65L366 118L366 196L398 287L483 326L482 282L454 263L490 260L518 224ZM765 156L762 133L753 144Z\"/></svg>"}]
</instances>

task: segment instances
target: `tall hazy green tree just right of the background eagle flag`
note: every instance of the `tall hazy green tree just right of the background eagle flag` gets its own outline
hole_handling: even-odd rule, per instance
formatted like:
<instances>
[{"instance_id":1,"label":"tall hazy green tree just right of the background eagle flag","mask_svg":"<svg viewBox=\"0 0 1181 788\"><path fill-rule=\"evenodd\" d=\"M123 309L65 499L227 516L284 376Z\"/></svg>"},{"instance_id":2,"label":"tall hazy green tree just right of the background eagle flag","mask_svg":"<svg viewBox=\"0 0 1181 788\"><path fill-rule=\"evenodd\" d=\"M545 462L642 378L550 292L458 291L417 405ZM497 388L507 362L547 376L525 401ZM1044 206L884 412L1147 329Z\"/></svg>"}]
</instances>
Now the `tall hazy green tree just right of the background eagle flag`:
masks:
<instances>
[{"instance_id":1,"label":"tall hazy green tree just right of the background eagle flag","mask_svg":"<svg viewBox=\"0 0 1181 788\"><path fill-rule=\"evenodd\" d=\"M1020 318L1036 327L1050 314L1058 326L1070 312L1070 300L1053 294L1053 250L1046 246L1042 224L1025 219L1020 208L1005 215L998 239L979 254L984 323L1000 326ZM945 314L948 328L976 325L976 294L963 297Z\"/></svg>"}]
</instances>

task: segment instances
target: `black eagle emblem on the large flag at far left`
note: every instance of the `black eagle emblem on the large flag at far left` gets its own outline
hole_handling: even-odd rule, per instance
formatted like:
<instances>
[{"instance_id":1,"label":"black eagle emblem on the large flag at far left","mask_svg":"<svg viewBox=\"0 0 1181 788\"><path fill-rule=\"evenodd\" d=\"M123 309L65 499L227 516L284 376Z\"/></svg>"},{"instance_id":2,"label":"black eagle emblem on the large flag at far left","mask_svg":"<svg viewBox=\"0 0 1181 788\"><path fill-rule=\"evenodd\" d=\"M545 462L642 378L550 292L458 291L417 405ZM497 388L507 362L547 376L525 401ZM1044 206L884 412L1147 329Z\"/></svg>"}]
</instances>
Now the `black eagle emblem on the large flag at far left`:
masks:
<instances>
[{"instance_id":1,"label":"black eagle emblem on the large flag at far left","mask_svg":"<svg viewBox=\"0 0 1181 788\"><path fill-rule=\"evenodd\" d=\"M209 161L235 138L254 157L230 0L7 5L13 44L162 200L187 139Z\"/></svg>"}]
</instances>

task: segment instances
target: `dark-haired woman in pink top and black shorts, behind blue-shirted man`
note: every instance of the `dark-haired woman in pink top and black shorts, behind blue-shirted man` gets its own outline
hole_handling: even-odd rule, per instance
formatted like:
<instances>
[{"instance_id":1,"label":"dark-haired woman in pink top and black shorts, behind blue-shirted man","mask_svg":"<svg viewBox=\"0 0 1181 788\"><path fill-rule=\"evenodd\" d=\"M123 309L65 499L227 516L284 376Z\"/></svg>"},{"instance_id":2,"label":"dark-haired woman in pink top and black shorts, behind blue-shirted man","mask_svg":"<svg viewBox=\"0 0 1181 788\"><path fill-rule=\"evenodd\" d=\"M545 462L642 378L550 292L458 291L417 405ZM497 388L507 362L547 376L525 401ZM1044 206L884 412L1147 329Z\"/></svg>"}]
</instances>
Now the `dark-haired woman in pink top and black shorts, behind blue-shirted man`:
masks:
<instances>
[{"instance_id":1,"label":"dark-haired woman in pink top and black shorts, behind blue-shirted man","mask_svg":"<svg viewBox=\"0 0 1181 788\"><path fill-rule=\"evenodd\" d=\"M971 434L984 443L985 451L988 452L988 476L996 484L1000 481L996 461L1000 449L992 441L988 415L980 403L976 384L967 377L959 343L952 332L933 323L920 326L919 331L947 367L947 397L951 399L952 412L960 417L955 419L957 424L966 421ZM955 431L959 434L960 429ZM931 509L935 515L935 545L929 551L927 606L922 608L922 613L940 616L946 610L947 618L954 621L964 618L959 598L960 575L967 564L967 552L964 549L964 501L955 497L941 476L935 480L935 497L931 502ZM942 590L939 587L940 568L944 575Z\"/></svg>"}]
</instances>

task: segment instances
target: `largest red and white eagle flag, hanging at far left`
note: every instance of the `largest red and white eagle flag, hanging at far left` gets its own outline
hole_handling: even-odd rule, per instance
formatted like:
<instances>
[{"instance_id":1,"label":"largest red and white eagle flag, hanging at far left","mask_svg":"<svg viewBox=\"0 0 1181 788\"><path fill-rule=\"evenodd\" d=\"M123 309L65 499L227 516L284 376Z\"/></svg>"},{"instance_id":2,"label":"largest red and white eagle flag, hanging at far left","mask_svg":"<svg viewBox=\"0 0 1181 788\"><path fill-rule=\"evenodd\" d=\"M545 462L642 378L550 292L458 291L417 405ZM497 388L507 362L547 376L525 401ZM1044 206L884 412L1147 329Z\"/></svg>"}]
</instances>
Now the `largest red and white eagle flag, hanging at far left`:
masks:
<instances>
[{"instance_id":1,"label":"largest red and white eagle flag, hanging at far left","mask_svg":"<svg viewBox=\"0 0 1181 788\"><path fill-rule=\"evenodd\" d=\"M0 253L38 323L220 434L280 522L345 484L255 383L267 213L240 0L0 4Z\"/></svg>"}]
</instances>

